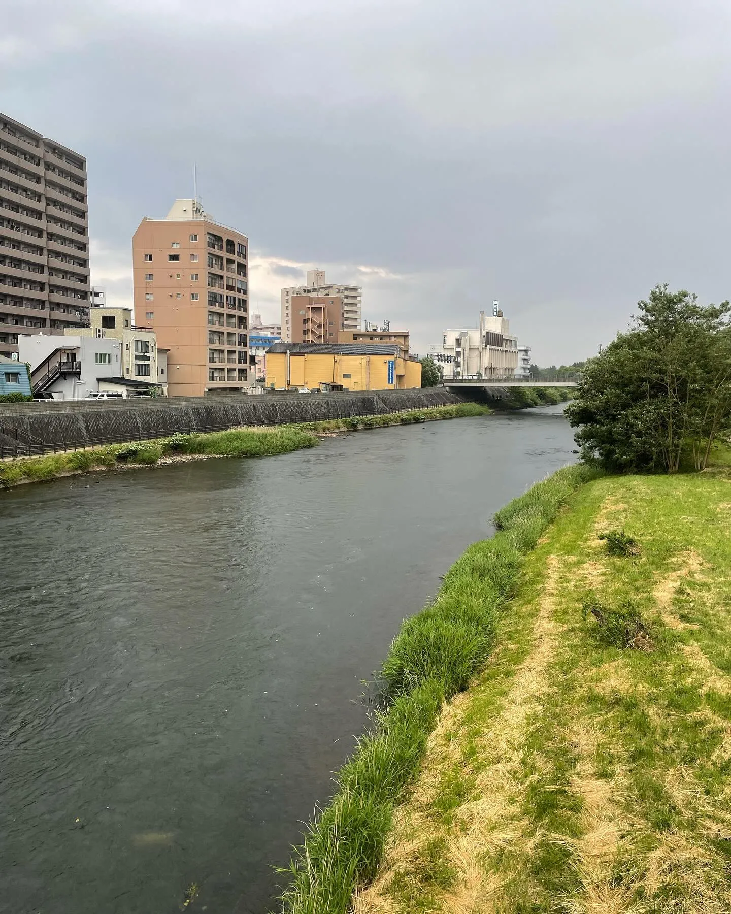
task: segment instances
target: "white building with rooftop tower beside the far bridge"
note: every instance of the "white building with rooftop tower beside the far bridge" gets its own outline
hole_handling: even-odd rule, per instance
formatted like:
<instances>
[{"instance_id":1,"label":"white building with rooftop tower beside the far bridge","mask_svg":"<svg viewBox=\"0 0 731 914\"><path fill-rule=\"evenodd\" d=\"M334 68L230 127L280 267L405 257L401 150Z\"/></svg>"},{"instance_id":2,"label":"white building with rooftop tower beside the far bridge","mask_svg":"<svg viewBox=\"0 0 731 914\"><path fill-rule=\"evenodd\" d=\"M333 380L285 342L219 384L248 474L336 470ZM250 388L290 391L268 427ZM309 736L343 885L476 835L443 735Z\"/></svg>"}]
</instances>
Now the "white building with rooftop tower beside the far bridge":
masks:
<instances>
[{"instance_id":1,"label":"white building with rooftop tower beside the far bridge","mask_svg":"<svg viewBox=\"0 0 731 914\"><path fill-rule=\"evenodd\" d=\"M495 308L492 316L480 312L479 327L445 330L440 352L429 346L429 356L440 365L445 379L514 377L518 340L510 333L510 321Z\"/></svg>"}]
</instances>

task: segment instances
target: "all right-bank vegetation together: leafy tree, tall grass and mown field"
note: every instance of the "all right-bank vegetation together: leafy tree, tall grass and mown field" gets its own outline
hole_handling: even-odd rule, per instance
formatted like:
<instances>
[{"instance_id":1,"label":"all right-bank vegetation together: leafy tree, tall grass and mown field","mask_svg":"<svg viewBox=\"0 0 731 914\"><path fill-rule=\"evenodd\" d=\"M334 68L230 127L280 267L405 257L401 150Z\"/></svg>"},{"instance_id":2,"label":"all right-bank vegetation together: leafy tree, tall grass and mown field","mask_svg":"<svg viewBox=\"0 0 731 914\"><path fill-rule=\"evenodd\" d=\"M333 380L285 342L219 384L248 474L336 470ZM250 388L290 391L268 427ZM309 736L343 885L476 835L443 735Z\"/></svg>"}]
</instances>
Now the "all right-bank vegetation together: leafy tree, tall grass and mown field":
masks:
<instances>
[{"instance_id":1,"label":"all right-bank vegetation together: leafy tree, tall grass and mown field","mask_svg":"<svg viewBox=\"0 0 731 914\"><path fill-rule=\"evenodd\" d=\"M638 308L583 462L404 622L286 914L731 910L731 304Z\"/></svg>"}]
</instances>

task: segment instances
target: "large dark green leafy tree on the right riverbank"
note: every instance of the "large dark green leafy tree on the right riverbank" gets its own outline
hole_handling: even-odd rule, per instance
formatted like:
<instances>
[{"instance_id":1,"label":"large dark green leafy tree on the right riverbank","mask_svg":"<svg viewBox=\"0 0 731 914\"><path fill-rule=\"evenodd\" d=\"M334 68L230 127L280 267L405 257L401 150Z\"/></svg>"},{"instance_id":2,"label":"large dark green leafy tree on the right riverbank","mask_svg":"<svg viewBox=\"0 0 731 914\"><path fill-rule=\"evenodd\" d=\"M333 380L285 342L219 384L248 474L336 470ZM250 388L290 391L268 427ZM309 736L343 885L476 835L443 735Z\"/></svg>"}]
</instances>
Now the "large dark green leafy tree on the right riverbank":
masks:
<instances>
[{"instance_id":1,"label":"large dark green leafy tree on the right riverbank","mask_svg":"<svg viewBox=\"0 0 731 914\"><path fill-rule=\"evenodd\" d=\"M731 424L731 305L656 286L630 331L582 371L567 417L585 457L610 470L704 469Z\"/></svg>"}]
</instances>

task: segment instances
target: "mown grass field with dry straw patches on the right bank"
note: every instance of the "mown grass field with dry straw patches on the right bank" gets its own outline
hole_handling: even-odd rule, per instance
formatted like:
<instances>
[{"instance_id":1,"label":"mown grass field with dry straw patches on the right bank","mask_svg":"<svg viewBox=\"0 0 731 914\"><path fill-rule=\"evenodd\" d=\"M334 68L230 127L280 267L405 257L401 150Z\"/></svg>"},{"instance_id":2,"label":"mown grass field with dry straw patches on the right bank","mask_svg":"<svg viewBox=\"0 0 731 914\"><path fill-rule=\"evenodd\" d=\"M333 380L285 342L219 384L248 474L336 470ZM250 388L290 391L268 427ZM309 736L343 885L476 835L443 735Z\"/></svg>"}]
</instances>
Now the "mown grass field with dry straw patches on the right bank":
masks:
<instances>
[{"instance_id":1,"label":"mown grass field with dry straw patches on the right bank","mask_svg":"<svg viewBox=\"0 0 731 914\"><path fill-rule=\"evenodd\" d=\"M357 914L731 910L728 482L577 491L442 711Z\"/></svg>"}]
</instances>

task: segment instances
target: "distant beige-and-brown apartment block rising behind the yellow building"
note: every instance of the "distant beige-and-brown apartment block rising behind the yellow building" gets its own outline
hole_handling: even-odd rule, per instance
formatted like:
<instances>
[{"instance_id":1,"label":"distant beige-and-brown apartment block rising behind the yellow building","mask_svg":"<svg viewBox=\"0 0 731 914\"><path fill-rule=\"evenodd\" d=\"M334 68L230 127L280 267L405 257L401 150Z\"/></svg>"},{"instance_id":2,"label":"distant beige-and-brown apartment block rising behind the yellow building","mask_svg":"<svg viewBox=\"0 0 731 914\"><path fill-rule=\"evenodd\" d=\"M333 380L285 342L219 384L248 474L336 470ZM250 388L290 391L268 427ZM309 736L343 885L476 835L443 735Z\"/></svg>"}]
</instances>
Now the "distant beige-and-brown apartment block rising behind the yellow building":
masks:
<instances>
[{"instance_id":1,"label":"distant beige-and-brown apartment block rising behind the yellow building","mask_svg":"<svg viewBox=\"0 0 731 914\"><path fill-rule=\"evenodd\" d=\"M302 296L311 298L313 304L322 304L331 299L337 300L336 317L333 326L328 327L334 331L332 338L325 335L323 340L315 341L311 338L299 339L301 335L302 310L306 312L307 303L302 303ZM297 302L294 302L294 299ZM296 314L295 314L296 312ZM340 330L360 330L362 312L362 288L354 285L328 284L325 282L324 270L308 270L307 284L303 286L289 286L281 290L281 337L286 343L336 343L337 333ZM320 311L313 317L320 317ZM315 322L316 323L316 322Z\"/></svg>"}]
</instances>

